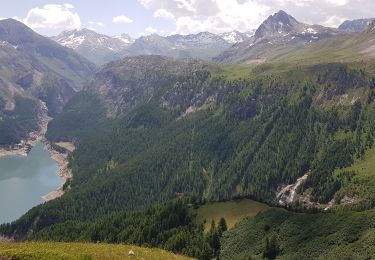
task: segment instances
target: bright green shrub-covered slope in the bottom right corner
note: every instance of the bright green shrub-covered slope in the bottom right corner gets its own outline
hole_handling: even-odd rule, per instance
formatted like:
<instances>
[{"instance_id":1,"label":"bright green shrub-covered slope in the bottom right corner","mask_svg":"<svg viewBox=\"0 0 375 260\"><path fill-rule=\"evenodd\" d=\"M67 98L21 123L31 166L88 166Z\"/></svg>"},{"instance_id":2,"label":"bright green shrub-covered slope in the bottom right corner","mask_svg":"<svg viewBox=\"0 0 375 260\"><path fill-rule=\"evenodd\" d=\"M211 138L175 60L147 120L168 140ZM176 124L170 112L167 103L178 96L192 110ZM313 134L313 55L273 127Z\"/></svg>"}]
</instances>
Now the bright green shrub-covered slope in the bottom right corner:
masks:
<instances>
[{"instance_id":1,"label":"bright green shrub-covered slope in the bottom right corner","mask_svg":"<svg viewBox=\"0 0 375 260\"><path fill-rule=\"evenodd\" d=\"M272 210L224 233L221 259L261 259L271 251L270 259L372 259L374 223L374 210L318 214Z\"/></svg>"}]
</instances>

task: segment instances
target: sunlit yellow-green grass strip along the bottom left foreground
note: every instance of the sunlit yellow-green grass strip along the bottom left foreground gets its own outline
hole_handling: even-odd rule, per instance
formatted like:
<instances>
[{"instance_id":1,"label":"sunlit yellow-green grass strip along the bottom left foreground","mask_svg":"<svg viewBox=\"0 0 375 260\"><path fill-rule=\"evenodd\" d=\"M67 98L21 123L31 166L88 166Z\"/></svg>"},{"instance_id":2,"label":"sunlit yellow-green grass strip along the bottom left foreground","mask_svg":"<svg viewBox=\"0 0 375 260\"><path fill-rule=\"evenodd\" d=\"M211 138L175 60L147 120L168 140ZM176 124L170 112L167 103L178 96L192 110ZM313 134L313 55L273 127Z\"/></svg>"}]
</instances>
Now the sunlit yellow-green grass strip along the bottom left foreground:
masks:
<instances>
[{"instance_id":1,"label":"sunlit yellow-green grass strip along the bottom left foreground","mask_svg":"<svg viewBox=\"0 0 375 260\"><path fill-rule=\"evenodd\" d=\"M132 250L134 255L128 255ZM0 259L192 259L161 249L89 243L0 243Z\"/></svg>"}]
</instances>

